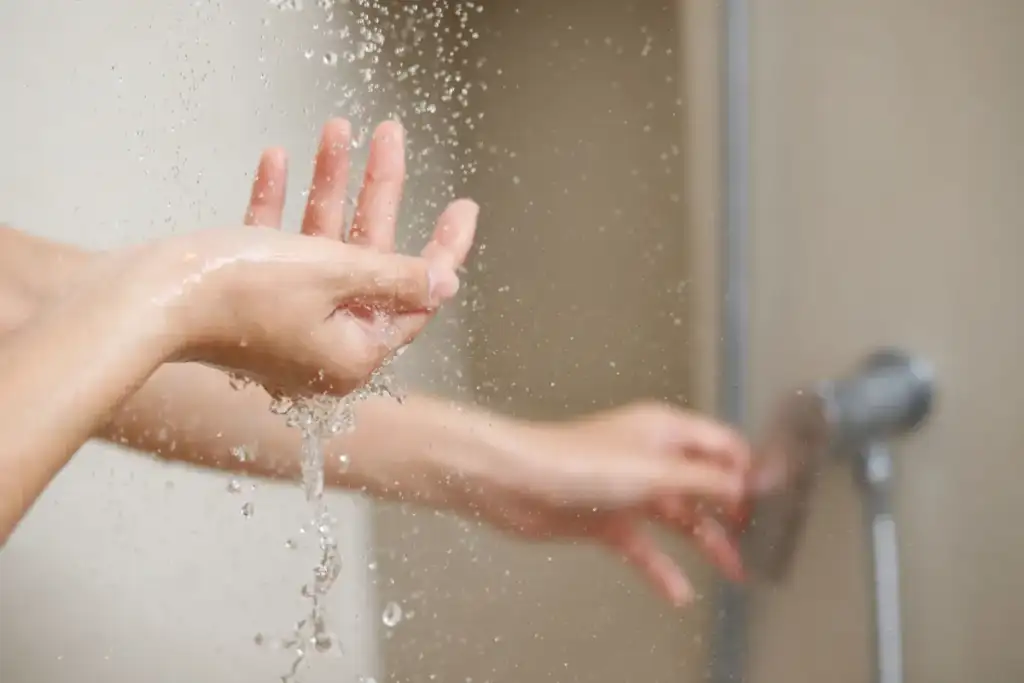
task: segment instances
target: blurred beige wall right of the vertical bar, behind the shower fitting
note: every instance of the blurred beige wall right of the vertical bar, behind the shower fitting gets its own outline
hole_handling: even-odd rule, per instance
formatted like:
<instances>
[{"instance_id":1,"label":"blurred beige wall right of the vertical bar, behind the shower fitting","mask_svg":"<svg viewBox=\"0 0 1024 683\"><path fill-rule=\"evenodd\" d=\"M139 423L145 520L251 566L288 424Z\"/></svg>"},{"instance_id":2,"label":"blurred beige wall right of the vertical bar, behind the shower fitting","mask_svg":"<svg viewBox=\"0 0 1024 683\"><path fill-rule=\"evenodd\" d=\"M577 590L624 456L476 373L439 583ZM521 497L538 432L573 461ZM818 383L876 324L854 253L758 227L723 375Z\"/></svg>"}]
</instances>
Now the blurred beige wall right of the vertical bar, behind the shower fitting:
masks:
<instances>
[{"instance_id":1,"label":"blurred beige wall right of the vertical bar, behind the shower fitting","mask_svg":"<svg viewBox=\"0 0 1024 683\"><path fill-rule=\"evenodd\" d=\"M906 680L1021 680L1024 3L751 5L755 414L878 344L931 357L938 411L898 453ZM822 484L754 683L870 680L859 501Z\"/></svg>"}]
</instances>

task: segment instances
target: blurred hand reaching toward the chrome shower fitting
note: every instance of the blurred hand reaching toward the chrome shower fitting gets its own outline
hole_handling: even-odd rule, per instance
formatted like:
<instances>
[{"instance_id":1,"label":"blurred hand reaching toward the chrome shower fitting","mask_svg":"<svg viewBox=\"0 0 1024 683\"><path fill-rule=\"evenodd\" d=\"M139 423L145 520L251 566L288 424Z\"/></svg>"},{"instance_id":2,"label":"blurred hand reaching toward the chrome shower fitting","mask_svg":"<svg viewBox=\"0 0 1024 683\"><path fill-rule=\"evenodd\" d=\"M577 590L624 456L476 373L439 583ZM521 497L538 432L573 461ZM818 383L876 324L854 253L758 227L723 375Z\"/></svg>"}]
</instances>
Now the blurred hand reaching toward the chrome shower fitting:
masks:
<instances>
[{"instance_id":1,"label":"blurred hand reaching toward the chrome shower fitting","mask_svg":"<svg viewBox=\"0 0 1024 683\"><path fill-rule=\"evenodd\" d=\"M563 424L510 423L495 433L487 440L498 445L480 450L483 464L461 473L456 509L529 539L604 544L676 604L692 600L693 588L648 522L692 540L726 577L743 578L732 533L742 521L751 458L729 428L643 403Z\"/></svg>"}]
</instances>

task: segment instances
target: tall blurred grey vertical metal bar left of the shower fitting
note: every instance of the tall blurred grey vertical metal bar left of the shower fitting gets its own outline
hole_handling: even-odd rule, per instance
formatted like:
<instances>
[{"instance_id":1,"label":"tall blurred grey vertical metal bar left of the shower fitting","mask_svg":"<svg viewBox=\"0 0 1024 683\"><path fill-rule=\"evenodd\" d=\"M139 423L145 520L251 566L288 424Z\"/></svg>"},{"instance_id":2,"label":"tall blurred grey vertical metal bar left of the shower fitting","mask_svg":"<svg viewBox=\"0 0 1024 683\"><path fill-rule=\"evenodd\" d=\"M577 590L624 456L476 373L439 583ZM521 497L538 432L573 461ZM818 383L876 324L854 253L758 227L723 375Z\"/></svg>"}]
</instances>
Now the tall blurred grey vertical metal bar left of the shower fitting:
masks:
<instances>
[{"instance_id":1,"label":"tall blurred grey vertical metal bar left of the shower fitting","mask_svg":"<svg viewBox=\"0 0 1024 683\"><path fill-rule=\"evenodd\" d=\"M749 0L725 0L723 110L725 113L721 254L721 353L719 413L737 426L746 421L748 263L749 247ZM746 597L724 585L712 641L710 680L739 683L744 678Z\"/></svg>"}]
</instances>

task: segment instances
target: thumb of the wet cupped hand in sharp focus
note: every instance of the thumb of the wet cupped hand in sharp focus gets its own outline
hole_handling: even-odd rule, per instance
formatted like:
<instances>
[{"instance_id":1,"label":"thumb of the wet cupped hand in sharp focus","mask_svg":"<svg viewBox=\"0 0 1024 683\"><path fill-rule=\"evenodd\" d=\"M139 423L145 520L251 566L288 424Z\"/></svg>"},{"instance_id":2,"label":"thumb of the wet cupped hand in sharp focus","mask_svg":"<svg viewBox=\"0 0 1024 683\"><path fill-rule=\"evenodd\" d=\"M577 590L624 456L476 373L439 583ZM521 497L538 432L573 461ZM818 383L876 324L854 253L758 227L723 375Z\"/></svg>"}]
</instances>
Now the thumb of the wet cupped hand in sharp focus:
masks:
<instances>
[{"instance_id":1,"label":"thumb of the wet cupped hand in sharp focus","mask_svg":"<svg viewBox=\"0 0 1024 683\"><path fill-rule=\"evenodd\" d=\"M387 312L429 310L459 291L459 276L449 265L334 244L347 252L336 282L339 304L373 306Z\"/></svg>"}]
</instances>

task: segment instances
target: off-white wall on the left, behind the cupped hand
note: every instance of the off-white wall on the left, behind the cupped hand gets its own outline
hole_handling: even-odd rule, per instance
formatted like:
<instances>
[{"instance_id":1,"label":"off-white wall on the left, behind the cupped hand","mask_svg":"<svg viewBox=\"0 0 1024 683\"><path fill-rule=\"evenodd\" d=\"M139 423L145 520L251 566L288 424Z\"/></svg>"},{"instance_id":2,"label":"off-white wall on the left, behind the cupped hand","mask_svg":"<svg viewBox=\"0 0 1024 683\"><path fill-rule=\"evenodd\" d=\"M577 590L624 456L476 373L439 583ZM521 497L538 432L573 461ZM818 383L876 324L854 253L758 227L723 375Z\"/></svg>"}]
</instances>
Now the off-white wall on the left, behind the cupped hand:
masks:
<instances>
[{"instance_id":1,"label":"off-white wall on the left, behind the cupped hand","mask_svg":"<svg viewBox=\"0 0 1024 683\"><path fill-rule=\"evenodd\" d=\"M239 223L260 150L283 144L294 225L323 121L361 103L369 123L400 104L399 90L365 98L360 62L325 65L352 42L325 38L324 12L306 5L0 3L0 217L92 248ZM346 88L355 98L338 104ZM408 232L429 227L430 203L444 199L443 158L429 173L415 168ZM403 358L410 384L430 386L459 362L447 351L457 334L435 326ZM303 614L312 558L285 542L307 510L291 486L246 482L229 495L226 483L84 449L0 555L0 680L275 680L289 656L253 637L284 636ZM339 496L332 506L346 556L333 602L346 654L321 663L311 682L377 674L369 508Z\"/></svg>"}]
</instances>

